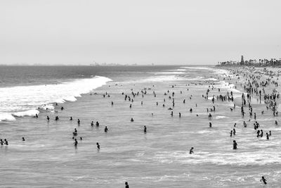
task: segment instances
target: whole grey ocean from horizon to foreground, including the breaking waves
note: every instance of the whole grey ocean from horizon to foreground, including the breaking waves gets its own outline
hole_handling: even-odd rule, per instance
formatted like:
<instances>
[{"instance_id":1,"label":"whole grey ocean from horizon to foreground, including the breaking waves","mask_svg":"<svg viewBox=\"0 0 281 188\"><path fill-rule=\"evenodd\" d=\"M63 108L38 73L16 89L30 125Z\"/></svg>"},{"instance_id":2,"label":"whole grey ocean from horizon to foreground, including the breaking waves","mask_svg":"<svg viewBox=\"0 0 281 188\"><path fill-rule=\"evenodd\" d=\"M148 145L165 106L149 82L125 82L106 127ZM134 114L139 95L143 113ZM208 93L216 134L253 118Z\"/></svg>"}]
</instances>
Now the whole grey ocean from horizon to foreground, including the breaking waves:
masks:
<instances>
[{"instance_id":1,"label":"whole grey ocean from horizon to foreground, including the breaking waves","mask_svg":"<svg viewBox=\"0 0 281 188\"><path fill-rule=\"evenodd\" d=\"M0 187L278 187L280 118L253 96L273 133L257 138L239 102L211 101L239 101L245 81L211 66L1 66Z\"/></svg>"}]
</instances>

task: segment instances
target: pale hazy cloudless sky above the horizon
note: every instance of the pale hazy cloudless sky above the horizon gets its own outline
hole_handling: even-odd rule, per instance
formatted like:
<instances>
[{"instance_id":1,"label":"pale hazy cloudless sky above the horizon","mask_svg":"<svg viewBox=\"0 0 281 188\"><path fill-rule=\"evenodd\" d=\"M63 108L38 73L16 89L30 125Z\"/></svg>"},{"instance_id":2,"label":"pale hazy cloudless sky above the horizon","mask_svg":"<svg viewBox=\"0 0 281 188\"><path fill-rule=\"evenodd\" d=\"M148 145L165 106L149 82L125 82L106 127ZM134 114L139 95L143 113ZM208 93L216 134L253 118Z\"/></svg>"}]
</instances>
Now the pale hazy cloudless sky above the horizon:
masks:
<instances>
[{"instance_id":1,"label":"pale hazy cloudless sky above the horizon","mask_svg":"<svg viewBox=\"0 0 281 188\"><path fill-rule=\"evenodd\" d=\"M0 63L281 57L281 1L0 0Z\"/></svg>"}]
</instances>

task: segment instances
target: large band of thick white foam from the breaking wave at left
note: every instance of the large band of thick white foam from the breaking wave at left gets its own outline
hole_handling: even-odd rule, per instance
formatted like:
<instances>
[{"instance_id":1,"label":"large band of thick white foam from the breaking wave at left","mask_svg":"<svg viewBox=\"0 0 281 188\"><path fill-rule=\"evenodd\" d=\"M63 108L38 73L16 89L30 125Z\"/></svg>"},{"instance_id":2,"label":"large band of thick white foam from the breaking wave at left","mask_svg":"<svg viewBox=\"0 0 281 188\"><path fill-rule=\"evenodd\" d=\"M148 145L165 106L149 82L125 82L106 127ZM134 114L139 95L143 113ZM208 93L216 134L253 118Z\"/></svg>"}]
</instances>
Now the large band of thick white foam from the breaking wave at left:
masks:
<instances>
[{"instance_id":1,"label":"large band of thick white foam from the breaking wave at left","mask_svg":"<svg viewBox=\"0 0 281 188\"><path fill-rule=\"evenodd\" d=\"M81 94L112 81L107 77L92 77L72 80L60 84L40 84L30 86L0 88L0 120L14 120L15 116L35 115L36 109L53 109L51 103L76 101Z\"/></svg>"}]
</instances>

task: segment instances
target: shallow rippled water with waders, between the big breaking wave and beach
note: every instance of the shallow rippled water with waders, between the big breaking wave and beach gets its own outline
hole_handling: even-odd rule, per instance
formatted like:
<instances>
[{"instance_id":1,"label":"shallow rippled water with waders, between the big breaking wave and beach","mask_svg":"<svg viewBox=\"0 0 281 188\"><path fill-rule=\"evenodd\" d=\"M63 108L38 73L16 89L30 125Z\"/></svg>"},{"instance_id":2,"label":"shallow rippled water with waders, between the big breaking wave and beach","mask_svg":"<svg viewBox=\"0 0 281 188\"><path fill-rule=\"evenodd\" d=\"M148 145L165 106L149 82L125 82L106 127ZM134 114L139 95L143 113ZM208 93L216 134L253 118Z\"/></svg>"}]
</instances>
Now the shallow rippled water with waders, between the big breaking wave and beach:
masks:
<instances>
[{"instance_id":1,"label":"shallow rippled water with waders, between the big breaking wave and beach","mask_svg":"<svg viewBox=\"0 0 281 188\"><path fill-rule=\"evenodd\" d=\"M92 95L81 94L77 101L58 104L55 106L58 113L42 110L39 118L25 116L2 121L0 137L7 138L9 145L0 149L4 159L0 161L0 186L124 187L127 181L130 187L262 187L261 176L266 177L269 186L279 185L281 128L274 124L279 118L273 118L265 106L255 106L253 113L257 113L264 132L262 138L256 138L254 118L250 122L248 115L242 118L238 107L230 111L231 102L212 104L202 98L209 88L204 80L223 71L185 68L184 78L182 73L163 77L167 71L183 72L183 67L137 69L126 70L127 74L120 78L116 74L108 76L110 73L101 75L113 81L94 89ZM230 82L227 79L224 81ZM214 81L216 89L209 96L218 94L218 87L222 94L233 89L221 84L222 80L223 77ZM192 84L195 82L203 85ZM144 88L148 94L131 96L132 91ZM240 91L233 92L240 96L242 90L237 89ZM103 97L105 92L110 97ZM133 103L124 101L122 92L129 94ZM173 108L168 98L171 92L175 93L173 116L167 109ZM60 111L60 106L65 109ZM211 112L213 127L209 128L206 108L213 106L216 112ZM261 115L263 110L265 113ZM46 121L46 115L50 116L50 122ZM56 115L60 120L54 120ZM70 121L70 116L74 120ZM244 120L247 128L243 127ZM99 121L100 126L91 127L91 121ZM237 134L230 137L234 123ZM148 127L146 134L143 125ZM105 126L109 129L107 133ZM78 140L77 149L72 144L74 128L78 130L78 138L83 137ZM265 133L269 130L273 136L266 140ZM21 137L26 141L22 142ZM232 149L233 139L237 141L237 151ZM96 142L100 143L99 151ZM195 153L190 155L192 146Z\"/></svg>"}]
</instances>

